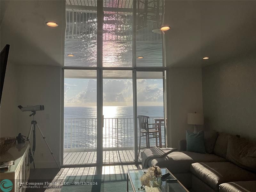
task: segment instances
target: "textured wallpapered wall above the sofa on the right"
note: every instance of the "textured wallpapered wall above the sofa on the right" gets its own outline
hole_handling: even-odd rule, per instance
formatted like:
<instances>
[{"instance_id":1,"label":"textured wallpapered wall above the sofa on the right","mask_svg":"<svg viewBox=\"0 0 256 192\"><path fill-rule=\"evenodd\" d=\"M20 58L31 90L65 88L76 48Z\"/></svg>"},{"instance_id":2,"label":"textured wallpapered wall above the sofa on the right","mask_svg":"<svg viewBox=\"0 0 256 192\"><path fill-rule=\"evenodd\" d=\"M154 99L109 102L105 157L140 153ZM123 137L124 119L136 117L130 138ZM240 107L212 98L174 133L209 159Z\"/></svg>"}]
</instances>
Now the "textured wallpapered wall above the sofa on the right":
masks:
<instances>
[{"instance_id":1,"label":"textured wallpapered wall above the sofa on the right","mask_svg":"<svg viewBox=\"0 0 256 192\"><path fill-rule=\"evenodd\" d=\"M256 139L256 50L202 68L205 128Z\"/></svg>"}]
</instances>

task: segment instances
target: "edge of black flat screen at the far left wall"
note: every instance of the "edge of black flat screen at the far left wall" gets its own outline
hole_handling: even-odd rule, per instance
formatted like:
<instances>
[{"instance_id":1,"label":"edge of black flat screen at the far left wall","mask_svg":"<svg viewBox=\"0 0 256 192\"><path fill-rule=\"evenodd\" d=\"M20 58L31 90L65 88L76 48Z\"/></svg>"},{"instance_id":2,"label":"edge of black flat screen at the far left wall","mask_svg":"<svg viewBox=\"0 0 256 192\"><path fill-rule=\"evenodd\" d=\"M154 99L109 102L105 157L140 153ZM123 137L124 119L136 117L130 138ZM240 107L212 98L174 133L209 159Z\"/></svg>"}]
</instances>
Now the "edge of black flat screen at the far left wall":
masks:
<instances>
[{"instance_id":1,"label":"edge of black flat screen at the far left wall","mask_svg":"<svg viewBox=\"0 0 256 192\"><path fill-rule=\"evenodd\" d=\"M4 76L5 76L5 71L6 71L6 65L7 65L7 59L8 59L8 54L9 54L9 49L10 49L10 45L6 44L4 49L1 51L1 56L0 56L0 64L1 64L1 68L0 68L0 84L1 84L1 95L0 95L0 103L1 103L1 99L2 99L2 92L3 92L3 88L4 88Z\"/></svg>"}]
</instances>

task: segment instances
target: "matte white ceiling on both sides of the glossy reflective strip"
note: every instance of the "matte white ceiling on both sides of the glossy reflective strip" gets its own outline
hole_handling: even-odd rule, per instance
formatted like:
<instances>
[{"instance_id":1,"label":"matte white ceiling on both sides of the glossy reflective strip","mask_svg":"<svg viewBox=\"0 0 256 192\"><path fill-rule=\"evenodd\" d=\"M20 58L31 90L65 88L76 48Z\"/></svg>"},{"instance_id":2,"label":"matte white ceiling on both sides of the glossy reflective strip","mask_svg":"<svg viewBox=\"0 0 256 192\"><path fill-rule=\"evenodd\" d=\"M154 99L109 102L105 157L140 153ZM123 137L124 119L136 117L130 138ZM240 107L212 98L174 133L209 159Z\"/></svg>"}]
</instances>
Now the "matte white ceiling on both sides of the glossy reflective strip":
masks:
<instances>
[{"instance_id":1,"label":"matte white ceiling on both sides of the glossy reflective strip","mask_svg":"<svg viewBox=\"0 0 256 192\"><path fill-rule=\"evenodd\" d=\"M1 49L11 45L9 61L64 66L65 4L1 1ZM167 66L201 67L256 48L255 10L256 1L166 0ZM59 27L47 27L50 20Z\"/></svg>"}]
</instances>

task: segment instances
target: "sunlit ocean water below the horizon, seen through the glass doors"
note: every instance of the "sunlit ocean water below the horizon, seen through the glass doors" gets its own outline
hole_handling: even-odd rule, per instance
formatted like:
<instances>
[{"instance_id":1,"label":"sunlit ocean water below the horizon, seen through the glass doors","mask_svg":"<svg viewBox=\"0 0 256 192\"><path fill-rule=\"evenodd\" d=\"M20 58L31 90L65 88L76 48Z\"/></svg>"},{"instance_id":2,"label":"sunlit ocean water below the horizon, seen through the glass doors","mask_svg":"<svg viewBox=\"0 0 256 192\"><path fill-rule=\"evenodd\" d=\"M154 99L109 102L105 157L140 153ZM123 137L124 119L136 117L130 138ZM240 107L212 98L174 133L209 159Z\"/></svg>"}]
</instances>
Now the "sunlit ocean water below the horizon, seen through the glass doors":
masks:
<instances>
[{"instance_id":1,"label":"sunlit ocean water below the horizon, seen through the glass doors","mask_svg":"<svg viewBox=\"0 0 256 192\"><path fill-rule=\"evenodd\" d=\"M138 106L137 111L138 115L149 116L150 123L155 123L154 118L164 117L163 106ZM104 106L103 115L103 148L133 148L132 106ZM96 107L64 108L64 148L96 148L96 138ZM145 140L141 143L144 146ZM164 126L162 126L162 144L164 145Z\"/></svg>"}]
</instances>

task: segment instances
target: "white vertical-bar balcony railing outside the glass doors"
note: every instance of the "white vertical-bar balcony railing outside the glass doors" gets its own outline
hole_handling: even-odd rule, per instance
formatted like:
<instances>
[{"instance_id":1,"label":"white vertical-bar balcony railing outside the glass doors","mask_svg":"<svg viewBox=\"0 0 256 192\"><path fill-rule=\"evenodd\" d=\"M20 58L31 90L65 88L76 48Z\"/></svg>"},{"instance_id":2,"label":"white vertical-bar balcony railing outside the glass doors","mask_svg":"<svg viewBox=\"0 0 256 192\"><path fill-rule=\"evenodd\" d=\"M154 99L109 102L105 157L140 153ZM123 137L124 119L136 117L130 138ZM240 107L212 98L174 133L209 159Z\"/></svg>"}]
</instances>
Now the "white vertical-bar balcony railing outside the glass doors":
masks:
<instances>
[{"instance_id":1,"label":"white vertical-bar balcony railing outside the glass doors","mask_svg":"<svg viewBox=\"0 0 256 192\"><path fill-rule=\"evenodd\" d=\"M150 117L149 123L155 123ZM164 126L161 126L162 146L164 146ZM138 126L139 140L139 126ZM154 146L156 140L150 141ZM134 126L133 118L104 118L103 150L133 149ZM146 146L145 137L141 146ZM97 119L96 118L64 118L64 151L83 151L97 148Z\"/></svg>"}]
</instances>

